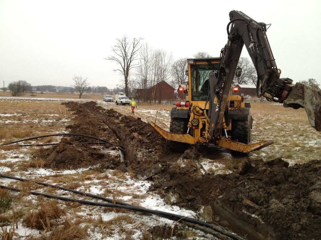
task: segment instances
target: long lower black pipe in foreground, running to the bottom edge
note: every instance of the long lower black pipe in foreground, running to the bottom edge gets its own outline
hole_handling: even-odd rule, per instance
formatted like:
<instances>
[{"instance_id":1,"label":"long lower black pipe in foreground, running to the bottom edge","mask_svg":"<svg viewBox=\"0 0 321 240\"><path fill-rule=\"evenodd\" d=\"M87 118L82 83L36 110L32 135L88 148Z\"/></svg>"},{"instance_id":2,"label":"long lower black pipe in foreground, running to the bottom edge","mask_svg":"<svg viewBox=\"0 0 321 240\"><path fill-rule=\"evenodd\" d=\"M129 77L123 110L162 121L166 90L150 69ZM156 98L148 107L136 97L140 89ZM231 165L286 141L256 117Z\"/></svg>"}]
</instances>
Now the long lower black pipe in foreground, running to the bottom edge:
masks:
<instances>
[{"instance_id":1,"label":"long lower black pipe in foreground, running to the bottom edge","mask_svg":"<svg viewBox=\"0 0 321 240\"><path fill-rule=\"evenodd\" d=\"M18 188L10 188L10 187L6 187L6 186L2 186L2 185L0 185L0 188L6 188L11 191L20 192L20 189L18 189ZM166 218L169 220L173 220L173 221L180 220L181 222L188 222L188 223L192 223L192 224L196 224L196 225L210 228L215 231L215 233L213 233L215 235L213 235L213 236L220 237L222 239L227 239L226 238L226 236L227 236L227 237L229 237L231 239L235 239L235 240L244 240L242 237L239 237L239 236L237 236L229 231L226 231L225 229L220 228L218 226L214 226L214 225L209 224L207 222L196 220L196 219L190 218L190 217L184 217L182 215L178 215L178 214L174 214L174 213L168 213L168 212L157 211L157 210L150 210L150 209L145 209L145 208L136 207L136 206L127 206L127 205L110 204L110 203L96 203L96 202L91 202L91 201L87 201L87 200L79 200L79 199L66 198L66 197L61 197L61 196L56 196L56 195L49 195L46 193L39 193L39 192L35 192L35 191L30 191L30 194L35 195L35 196L44 196L47 198L54 198L54 199L61 200L61 201L77 202L77 203L87 204L87 205L91 205L91 206L110 207L110 208L126 209L126 210L132 210L132 211L137 211L137 212L149 213L149 214L157 215L157 216L160 216L160 217L163 217L163 218Z\"/></svg>"}]
</instances>

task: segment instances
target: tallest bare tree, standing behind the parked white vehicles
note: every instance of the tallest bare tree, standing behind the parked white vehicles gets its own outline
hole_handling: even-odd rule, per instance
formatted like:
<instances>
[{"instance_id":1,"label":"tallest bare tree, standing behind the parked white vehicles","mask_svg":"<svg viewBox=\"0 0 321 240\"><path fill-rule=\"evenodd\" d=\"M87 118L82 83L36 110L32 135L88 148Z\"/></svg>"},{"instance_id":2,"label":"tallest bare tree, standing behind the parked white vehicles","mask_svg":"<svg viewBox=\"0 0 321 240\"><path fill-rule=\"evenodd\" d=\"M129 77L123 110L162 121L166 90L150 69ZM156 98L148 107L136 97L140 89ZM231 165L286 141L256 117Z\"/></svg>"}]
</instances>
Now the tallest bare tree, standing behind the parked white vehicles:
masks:
<instances>
[{"instance_id":1,"label":"tallest bare tree, standing behind the parked white vehicles","mask_svg":"<svg viewBox=\"0 0 321 240\"><path fill-rule=\"evenodd\" d=\"M106 60L112 60L117 62L120 66L114 71L119 71L124 76L125 93L128 96L128 76L132 68L136 68L138 64L134 64L137 60L138 51L141 48L142 38L133 38L130 40L126 35L121 38L116 38L116 45L114 45L111 50L114 55L105 58Z\"/></svg>"}]
</instances>

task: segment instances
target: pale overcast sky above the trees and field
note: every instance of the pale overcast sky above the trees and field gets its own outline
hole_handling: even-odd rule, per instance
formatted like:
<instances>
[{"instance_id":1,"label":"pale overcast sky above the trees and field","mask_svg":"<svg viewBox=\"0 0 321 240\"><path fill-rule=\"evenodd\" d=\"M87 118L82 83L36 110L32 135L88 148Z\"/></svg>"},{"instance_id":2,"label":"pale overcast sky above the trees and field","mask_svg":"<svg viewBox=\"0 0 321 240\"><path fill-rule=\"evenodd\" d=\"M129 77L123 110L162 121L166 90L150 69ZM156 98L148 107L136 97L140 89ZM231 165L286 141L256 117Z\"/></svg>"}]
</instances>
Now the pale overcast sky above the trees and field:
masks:
<instances>
[{"instance_id":1,"label":"pale overcast sky above the trees and field","mask_svg":"<svg viewBox=\"0 0 321 240\"><path fill-rule=\"evenodd\" d=\"M219 56L229 12L272 23L267 36L281 77L321 84L321 1L14 1L0 0L0 83L115 87L115 38L143 37L175 59L205 51ZM242 56L248 56L243 49Z\"/></svg>"}]
</instances>

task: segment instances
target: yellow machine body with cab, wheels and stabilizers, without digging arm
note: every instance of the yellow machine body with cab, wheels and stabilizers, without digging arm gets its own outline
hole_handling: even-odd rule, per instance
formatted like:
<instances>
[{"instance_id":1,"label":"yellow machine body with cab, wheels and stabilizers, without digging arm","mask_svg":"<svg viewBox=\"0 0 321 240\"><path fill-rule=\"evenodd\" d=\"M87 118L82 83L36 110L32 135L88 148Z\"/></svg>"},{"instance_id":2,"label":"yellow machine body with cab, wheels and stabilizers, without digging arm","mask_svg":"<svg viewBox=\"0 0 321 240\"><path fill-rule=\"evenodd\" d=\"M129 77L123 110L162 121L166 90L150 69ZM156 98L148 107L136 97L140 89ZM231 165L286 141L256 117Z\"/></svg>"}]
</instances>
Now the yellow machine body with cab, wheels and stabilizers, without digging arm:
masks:
<instances>
[{"instance_id":1,"label":"yellow machine body with cab, wheels and stabilizers, without digging arm","mask_svg":"<svg viewBox=\"0 0 321 240\"><path fill-rule=\"evenodd\" d=\"M232 95L231 86L227 108L221 123L221 135L216 139L210 136L209 76L217 72L219 58L188 59L187 63L188 84L179 89L186 92L187 96L185 100L177 102L172 108L169 132L151 123L163 137L170 140L170 146L175 150L182 150L188 144L212 142L223 148L243 153L267 146L267 142L249 145L252 128L250 103L246 103L244 97Z\"/></svg>"}]
</instances>

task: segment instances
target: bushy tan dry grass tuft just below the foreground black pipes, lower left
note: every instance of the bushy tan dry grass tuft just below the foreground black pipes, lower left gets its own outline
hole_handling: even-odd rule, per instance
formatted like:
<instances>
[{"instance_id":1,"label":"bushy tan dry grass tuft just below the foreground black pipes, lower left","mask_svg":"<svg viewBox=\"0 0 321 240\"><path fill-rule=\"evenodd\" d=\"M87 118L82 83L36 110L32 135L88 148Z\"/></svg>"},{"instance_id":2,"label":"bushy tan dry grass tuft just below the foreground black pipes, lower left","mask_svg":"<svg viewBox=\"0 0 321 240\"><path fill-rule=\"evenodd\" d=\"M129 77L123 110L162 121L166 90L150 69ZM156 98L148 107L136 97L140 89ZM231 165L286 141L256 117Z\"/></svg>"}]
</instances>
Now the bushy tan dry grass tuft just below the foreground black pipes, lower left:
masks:
<instances>
[{"instance_id":1,"label":"bushy tan dry grass tuft just below the foreground black pipes, lower left","mask_svg":"<svg viewBox=\"0 0 321 240\"><path fill-rule=\"evenodd\" d=\"M50 230L50 221L65 216L65 213L65 210L58 206L57 200L48 200L40 203L38 211L30 211L22 223L29 228Z\"/></svg>"}]
</instances>

